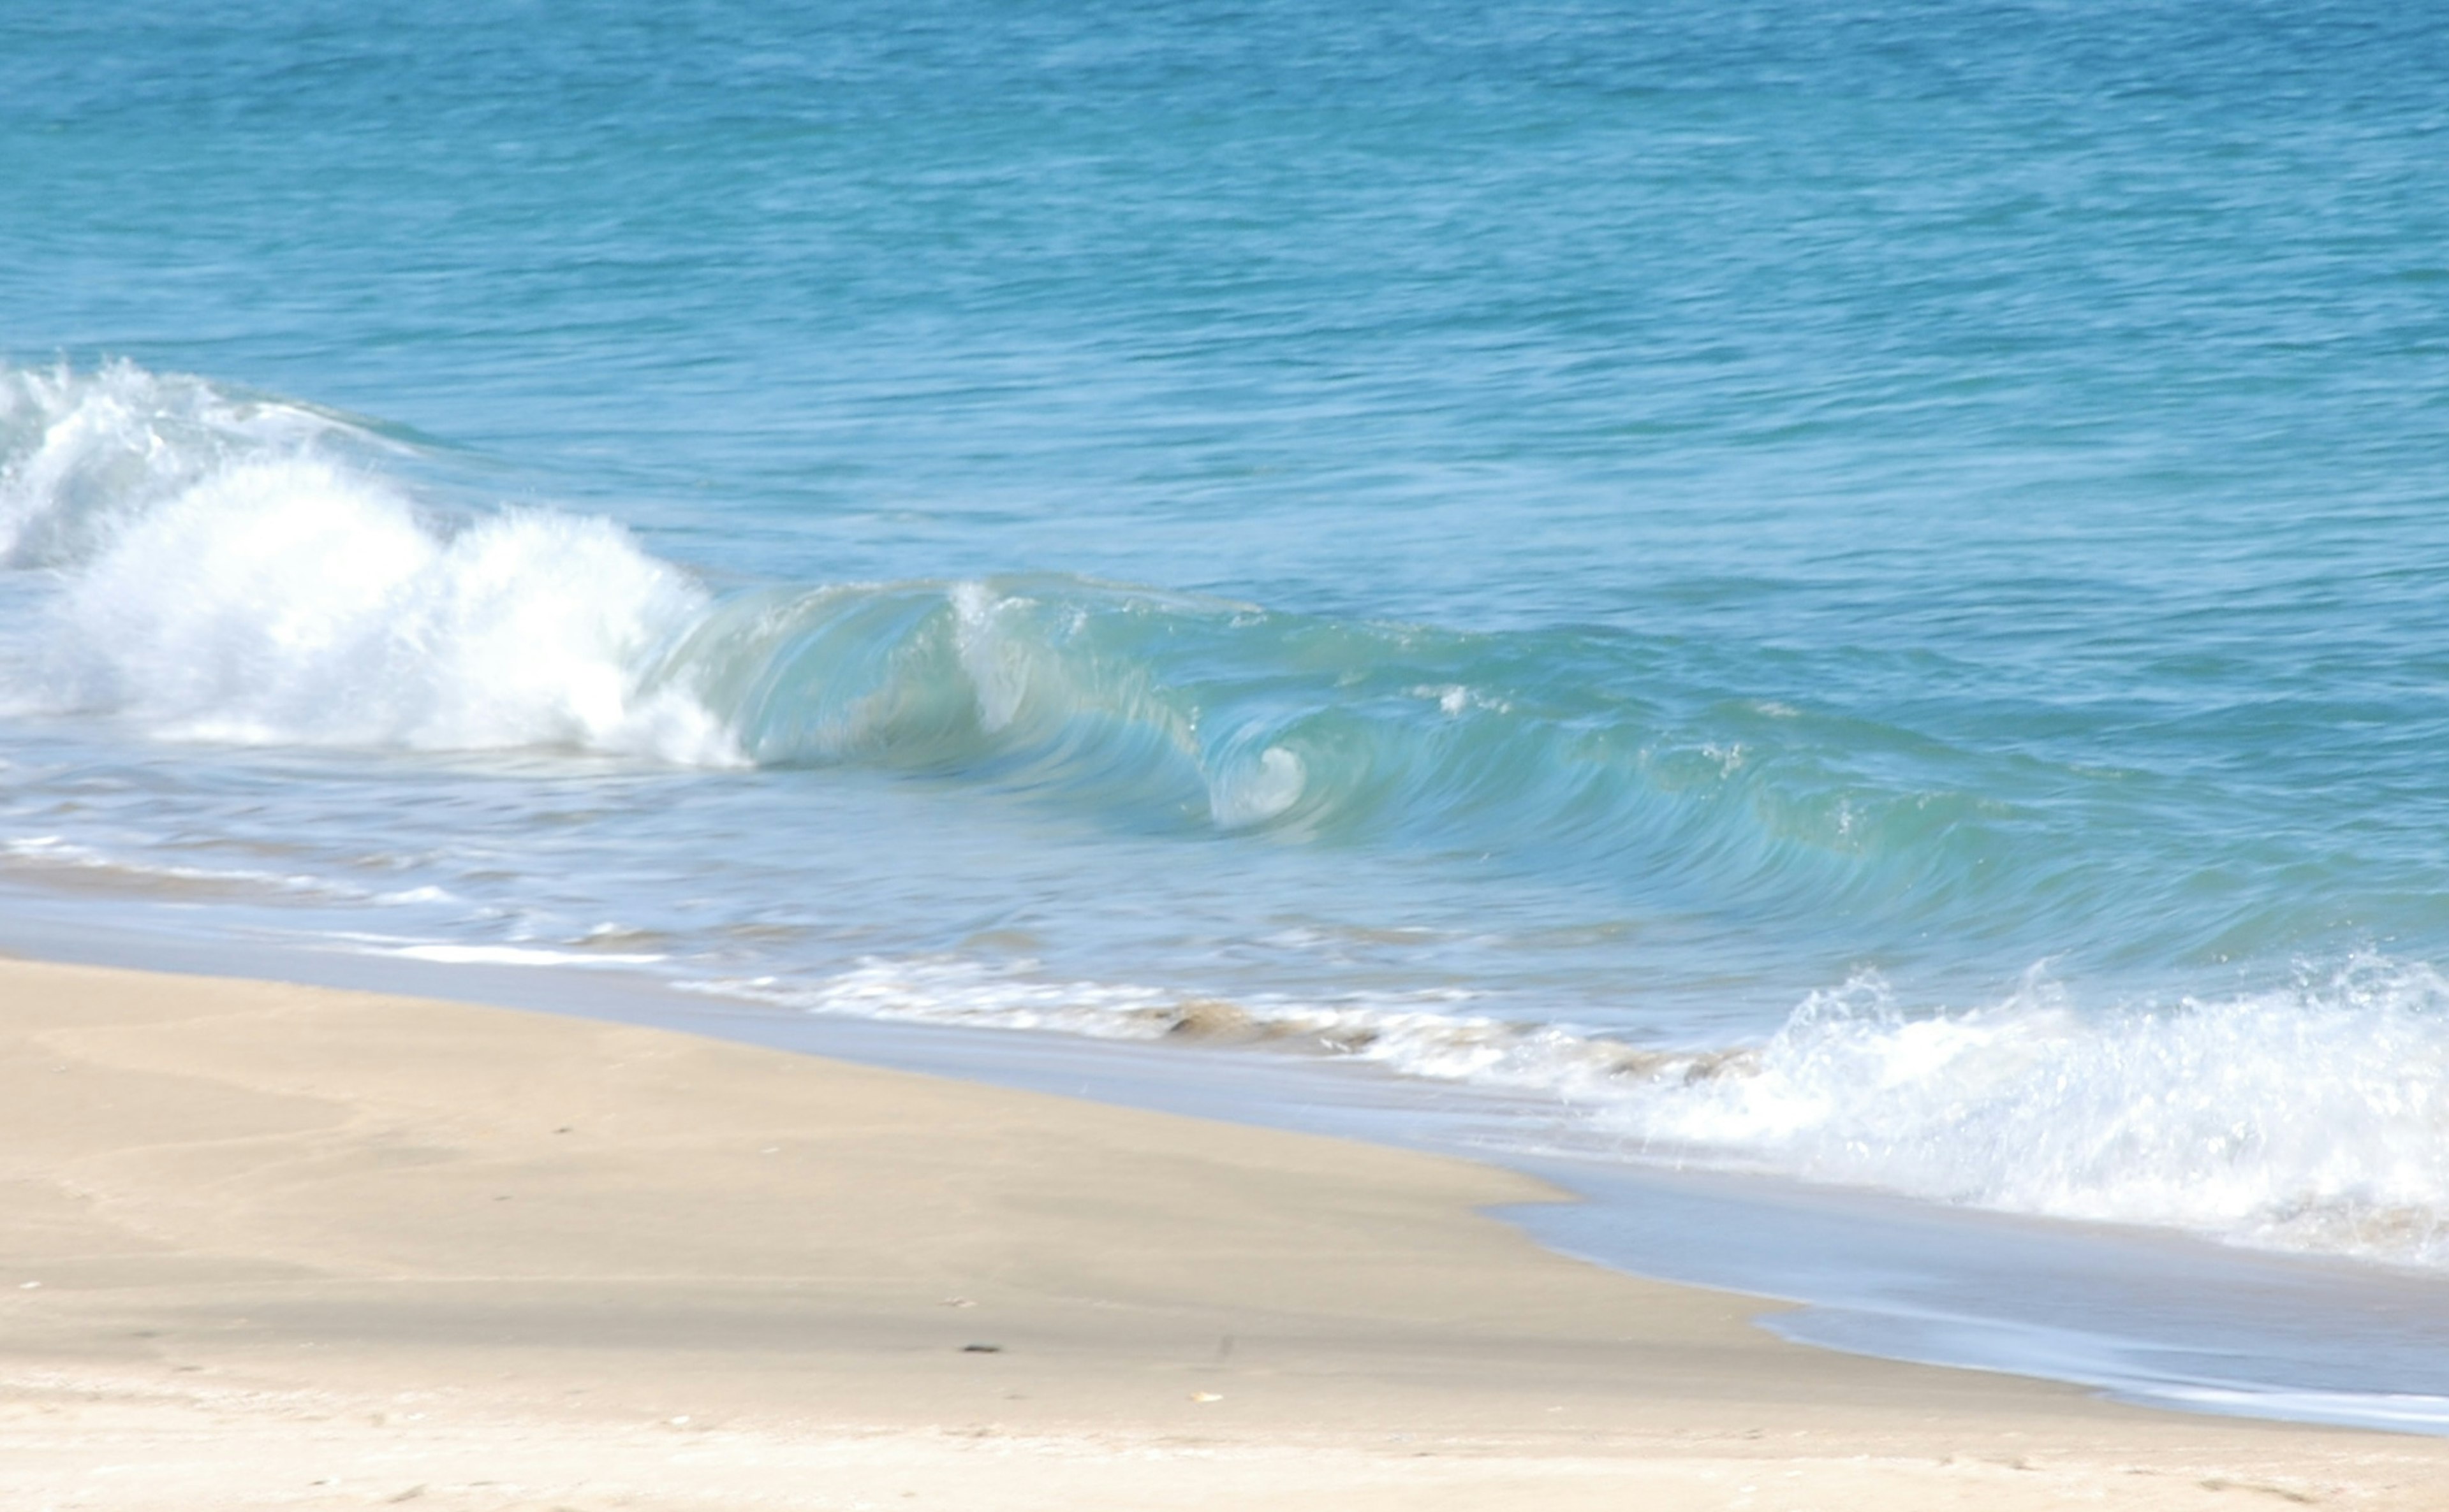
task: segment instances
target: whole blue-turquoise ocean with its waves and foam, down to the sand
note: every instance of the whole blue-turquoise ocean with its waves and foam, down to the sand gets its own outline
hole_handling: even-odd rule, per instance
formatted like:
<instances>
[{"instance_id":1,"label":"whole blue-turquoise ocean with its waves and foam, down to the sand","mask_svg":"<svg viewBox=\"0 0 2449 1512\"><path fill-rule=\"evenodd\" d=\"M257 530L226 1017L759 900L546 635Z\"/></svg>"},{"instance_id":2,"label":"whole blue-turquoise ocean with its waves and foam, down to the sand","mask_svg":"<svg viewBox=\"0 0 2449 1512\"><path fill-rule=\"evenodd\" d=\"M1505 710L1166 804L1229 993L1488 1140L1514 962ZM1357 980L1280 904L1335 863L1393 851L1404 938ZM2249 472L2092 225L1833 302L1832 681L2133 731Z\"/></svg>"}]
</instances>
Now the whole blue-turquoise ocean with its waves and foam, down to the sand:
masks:
<instances>
[{"instance_id":1,"label":"whole blue-turquoise ocean with its waves and foam, down to the sand","mask_svg":"<svg viewBox=\"0 0 2449 1512\"><path fill-rule=\"evenodd\" d=\"M0 935L2243 1267L2185 1365L1971 1363L2449 1429L2442 78L2336 2L12 10ZM1856 1284L1660 1223L1558 1243ZM2238 1343L2270 1277L2420 1348Z\"/></svg>"}]
</instances>

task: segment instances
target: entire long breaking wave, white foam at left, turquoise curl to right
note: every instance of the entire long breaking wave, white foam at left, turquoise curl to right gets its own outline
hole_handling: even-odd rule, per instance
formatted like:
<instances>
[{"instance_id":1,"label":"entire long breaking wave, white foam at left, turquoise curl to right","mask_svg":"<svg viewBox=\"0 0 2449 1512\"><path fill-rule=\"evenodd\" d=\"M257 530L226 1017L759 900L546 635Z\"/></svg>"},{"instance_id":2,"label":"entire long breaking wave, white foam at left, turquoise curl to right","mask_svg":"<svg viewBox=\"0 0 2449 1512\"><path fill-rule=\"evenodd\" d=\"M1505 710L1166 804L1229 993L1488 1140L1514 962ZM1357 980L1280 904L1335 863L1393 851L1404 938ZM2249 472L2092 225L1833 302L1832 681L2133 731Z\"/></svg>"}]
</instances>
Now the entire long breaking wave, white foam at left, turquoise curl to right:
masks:
<instances>
[{"instance_id":1,"label":"entire long breaking wave, white foam at left, turquoise curl to right","mask_svg":"<svg viewBox=\"0 0 2449 1512\"><path fill-rule=\"evenodd\" d=\"M1134 834L1465 856L1678 913L2030 959L2295 947L2182 778L1739 692L1697 639L1447 631L1073 575L713 592L453 458L130 365L0 369L0 702L164 739L958 778ZM1785 673L1780 673L1785 675ZM2155 854L2121 888L2138 800ZM2216 798L2216 795L2211 795ZM2319 839L2329 844L2329 839ZM2189 854L2185 847L2197 847ZM2353 861L2353 859L2349 859ZM2238 883L2236 878L2248 878ZM2385 876L2368 917L2407 908Z\"/></svg>"}]
</instances>

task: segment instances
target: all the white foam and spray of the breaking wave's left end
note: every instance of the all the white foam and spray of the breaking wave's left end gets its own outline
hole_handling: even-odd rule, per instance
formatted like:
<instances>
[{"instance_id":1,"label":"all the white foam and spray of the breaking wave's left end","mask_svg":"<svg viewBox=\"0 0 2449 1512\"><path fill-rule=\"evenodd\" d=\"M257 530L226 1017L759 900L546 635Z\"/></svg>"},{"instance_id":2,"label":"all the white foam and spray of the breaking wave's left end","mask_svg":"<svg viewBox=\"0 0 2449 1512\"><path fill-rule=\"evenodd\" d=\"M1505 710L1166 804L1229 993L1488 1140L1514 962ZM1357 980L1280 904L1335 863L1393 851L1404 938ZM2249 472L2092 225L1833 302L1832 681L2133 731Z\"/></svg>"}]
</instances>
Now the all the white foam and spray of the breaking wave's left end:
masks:
<instances>
[{"instance_id":1,"label":"all the white foam and spray of the breaking wave's left end","mask_svg":"<svg viewBox=\"0 0 2449 1512\"><path fill-rule=\"evenodd\" d=\"M705 612L600 519L451 528L348 426L132 367L0 382L0 553L59 595L12 702L171 739L737 761L661 646Z\"/></svg>"}]
</instances>

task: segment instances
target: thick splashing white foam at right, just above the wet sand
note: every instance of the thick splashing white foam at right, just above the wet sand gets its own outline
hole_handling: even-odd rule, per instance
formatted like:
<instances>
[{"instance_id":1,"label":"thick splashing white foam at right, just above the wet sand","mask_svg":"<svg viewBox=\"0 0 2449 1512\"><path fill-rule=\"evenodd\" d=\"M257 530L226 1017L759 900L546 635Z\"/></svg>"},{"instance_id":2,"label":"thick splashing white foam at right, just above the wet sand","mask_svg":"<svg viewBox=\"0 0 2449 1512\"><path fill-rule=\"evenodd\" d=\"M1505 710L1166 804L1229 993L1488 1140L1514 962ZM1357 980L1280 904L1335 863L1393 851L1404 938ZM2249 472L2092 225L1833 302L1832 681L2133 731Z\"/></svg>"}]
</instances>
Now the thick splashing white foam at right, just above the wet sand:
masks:
<instances>
[{"instance_id":1,"label":"thick splashing white foam at right, just above the wet sand","mask_svg":"<svg viewBox=\"0 0 2449 1512\"><path fill-rule=\"evenodd\" d=\"M2449 1265L2444 1008L2439 974L2380 959L2099 1015L2035 976L1908 1018L1859 979L1744 1074L1629 1084L1602 1121L1810 1179Z\"/></svg>"}]
</instances>

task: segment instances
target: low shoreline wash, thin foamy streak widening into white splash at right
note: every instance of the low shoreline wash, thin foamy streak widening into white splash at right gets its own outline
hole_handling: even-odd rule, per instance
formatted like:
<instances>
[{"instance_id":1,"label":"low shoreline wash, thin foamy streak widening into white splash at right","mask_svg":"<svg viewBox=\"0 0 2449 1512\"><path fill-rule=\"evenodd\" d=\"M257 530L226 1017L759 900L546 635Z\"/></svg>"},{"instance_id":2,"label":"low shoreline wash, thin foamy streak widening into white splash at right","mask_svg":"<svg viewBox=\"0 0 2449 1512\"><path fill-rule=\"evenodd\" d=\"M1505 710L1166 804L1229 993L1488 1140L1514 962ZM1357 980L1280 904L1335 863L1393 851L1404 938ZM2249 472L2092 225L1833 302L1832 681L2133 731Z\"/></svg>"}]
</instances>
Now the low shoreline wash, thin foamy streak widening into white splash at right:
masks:
<instances>
[{"instance_id":1,"label":"low shoreline wash, thin foamy streak widening into white splash at right","mask_svg":"<svg viewBox=\"0 0 2449 1512\"><path fill-rule=\"evenodd\" d=\"M1467 993L1220 1001L960 959L700 981L798 1008L1354 1057L1533 1094L1636 1157L2052 1218L2449 1267L2449 981L2356 959L2229 998L2079 1010L2035 971L1908 1010L1876 976L1771 1037L1646 1047L1472 1015Z\"/></svg>"}]
</instances>

